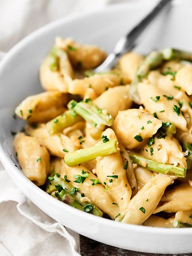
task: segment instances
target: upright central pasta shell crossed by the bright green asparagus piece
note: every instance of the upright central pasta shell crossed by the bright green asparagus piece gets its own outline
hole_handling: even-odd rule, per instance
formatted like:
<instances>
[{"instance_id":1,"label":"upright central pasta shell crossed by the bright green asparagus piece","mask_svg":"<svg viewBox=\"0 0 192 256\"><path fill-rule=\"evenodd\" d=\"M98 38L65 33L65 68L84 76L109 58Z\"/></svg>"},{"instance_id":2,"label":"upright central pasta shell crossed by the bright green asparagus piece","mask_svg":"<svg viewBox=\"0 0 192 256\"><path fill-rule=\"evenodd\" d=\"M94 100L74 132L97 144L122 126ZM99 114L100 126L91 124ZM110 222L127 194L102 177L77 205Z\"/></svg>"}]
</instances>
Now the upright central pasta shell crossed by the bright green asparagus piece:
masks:
<instances>
[{"instance_id":1,"label":"upright central pasta shell crossed by the bright green asparagus piece","mask_svg":"<svg viewBox=\"0 0 192 256\"><path fill-rule=\"evenodd\" d=\"M110 128L106 129L102 134L106 135L109 140L116 139L115 132ZM106 182L106 186L108 186L106 193L118 204L120 212L123 212L130 202L132 190L126 178L120 151L118 150L108 156L98 157L96 161L97 177L102 183ZM117 175L117 178L107 177L113 175ZM111 180L112 182L110 182Z\"/></svg>"}]
</instances>

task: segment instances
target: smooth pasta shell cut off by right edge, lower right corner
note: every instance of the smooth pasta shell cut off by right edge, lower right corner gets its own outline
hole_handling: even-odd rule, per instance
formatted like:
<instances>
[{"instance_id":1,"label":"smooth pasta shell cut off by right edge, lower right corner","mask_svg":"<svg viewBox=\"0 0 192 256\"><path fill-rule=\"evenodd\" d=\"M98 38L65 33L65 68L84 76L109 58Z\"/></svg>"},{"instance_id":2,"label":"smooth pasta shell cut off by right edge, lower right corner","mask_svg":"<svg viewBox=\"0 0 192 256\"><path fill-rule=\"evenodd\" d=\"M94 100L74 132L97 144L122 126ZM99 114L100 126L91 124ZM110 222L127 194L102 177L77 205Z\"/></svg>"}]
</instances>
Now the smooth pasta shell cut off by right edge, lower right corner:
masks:
<instances>
[{"instance_id":1,"label":"smooth pasta shell cut off by right edge, lower right corner","mask_svg":"<svg viewBox=\"0 0 192 256\"><path fill-rule=\"evenodd\" d=\"M192 211L192 187L180 184L167 190L161 198L163 205L158 206L153 213Z\"/></svg>"}]
</instances>

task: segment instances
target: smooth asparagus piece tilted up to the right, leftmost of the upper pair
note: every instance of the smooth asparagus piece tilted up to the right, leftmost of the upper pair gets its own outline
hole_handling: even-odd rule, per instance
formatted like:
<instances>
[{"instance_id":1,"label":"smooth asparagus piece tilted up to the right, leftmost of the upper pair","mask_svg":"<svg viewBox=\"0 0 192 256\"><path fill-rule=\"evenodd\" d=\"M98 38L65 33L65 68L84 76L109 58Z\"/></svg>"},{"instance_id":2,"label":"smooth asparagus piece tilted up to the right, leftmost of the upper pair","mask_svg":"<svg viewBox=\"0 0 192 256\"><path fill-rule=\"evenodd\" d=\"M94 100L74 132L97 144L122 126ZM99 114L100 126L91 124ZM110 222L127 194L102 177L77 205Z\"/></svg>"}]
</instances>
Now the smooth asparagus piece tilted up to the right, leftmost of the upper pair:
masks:
<instances>
[{"instance_id":1,"label":"smooth asparagus piece tilted up to the right, leftmost of the upper pair","mask_svg":"<svg viewBox=\"0 0 192 256\"><path fill-rule=\"evenodd\" d=\"M57 132L62 132L63 129L69 127L79 121L83 121L83 118L76 114L73 110L67 110L60 116L55 117L46 124L46 129L50 135Z\"/></svg>"}]
</instances>

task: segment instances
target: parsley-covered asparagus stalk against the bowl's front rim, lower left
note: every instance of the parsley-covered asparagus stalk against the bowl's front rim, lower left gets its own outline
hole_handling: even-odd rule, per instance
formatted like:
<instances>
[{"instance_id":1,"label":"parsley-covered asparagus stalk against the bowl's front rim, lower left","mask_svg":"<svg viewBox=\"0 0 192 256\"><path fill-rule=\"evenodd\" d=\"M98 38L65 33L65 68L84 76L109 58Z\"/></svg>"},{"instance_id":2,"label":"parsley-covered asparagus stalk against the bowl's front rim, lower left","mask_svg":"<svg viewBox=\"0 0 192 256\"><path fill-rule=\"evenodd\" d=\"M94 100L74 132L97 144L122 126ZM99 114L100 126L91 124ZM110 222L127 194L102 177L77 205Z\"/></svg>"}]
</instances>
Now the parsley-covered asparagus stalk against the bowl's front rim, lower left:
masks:
<instances>
[{"instance_id":1,"label":"parsley-covered asparagus stalk against the bowl's front rim, lower left","mask_svg":"<svg viewBox=\"0 0 192 256\"><path fill-rule=\"evenodd\" d=\"M81 202L81 194L78 192L78 188L75 188L68 181L61 178L59 175L54 175L51 180L52 185L58 191L52 193L54 197L58 197L61 201L66 204L69 204L76 209L79 209L84 212L90 212L93 215L102 217L103 213L100 209L94 204L89 204L86 202Z\"/></svg>"}]
</instances>

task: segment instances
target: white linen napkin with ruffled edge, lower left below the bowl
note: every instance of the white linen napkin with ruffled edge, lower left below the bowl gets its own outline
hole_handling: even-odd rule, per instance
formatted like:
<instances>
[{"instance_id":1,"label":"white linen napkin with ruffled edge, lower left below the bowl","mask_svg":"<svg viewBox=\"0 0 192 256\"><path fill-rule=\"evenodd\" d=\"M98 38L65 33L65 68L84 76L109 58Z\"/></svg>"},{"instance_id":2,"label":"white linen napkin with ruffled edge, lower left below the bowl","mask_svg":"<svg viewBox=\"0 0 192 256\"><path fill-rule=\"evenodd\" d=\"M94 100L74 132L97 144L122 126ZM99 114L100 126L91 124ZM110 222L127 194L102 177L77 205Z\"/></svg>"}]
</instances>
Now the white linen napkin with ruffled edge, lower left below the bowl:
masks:
<instances>
[{"instance_id":1,"label":"white linen napkin with ruffled edge, lower left below the bowl","mask_svg":"<svg viewBox=\"0 0 192 256\"><path fill-rule=\"evenodd\" d=\"M80 255L79 235L36 207L5 170L0 170L0 255Z\"/></svg>"}]
</instances>

